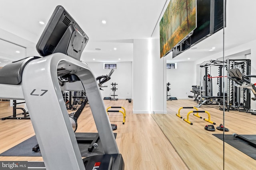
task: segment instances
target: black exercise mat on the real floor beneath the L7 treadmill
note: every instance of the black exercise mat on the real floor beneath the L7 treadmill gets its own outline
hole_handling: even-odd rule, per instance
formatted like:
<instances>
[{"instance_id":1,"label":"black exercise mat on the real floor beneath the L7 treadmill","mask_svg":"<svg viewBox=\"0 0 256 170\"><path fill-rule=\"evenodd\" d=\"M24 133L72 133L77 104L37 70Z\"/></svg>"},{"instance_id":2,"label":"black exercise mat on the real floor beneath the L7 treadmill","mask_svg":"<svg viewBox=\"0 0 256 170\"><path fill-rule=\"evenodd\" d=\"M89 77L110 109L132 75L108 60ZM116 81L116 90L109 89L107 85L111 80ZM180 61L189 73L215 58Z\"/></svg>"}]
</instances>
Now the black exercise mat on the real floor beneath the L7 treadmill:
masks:
<instances>
[{"instance_id":1,"label":"black exercise mat on the real floor beneath the L7 treadmill","mask_svg":"<svg viewBox=\"0 0 256 170\"><path fill-rule=\"evenodd\" d=\"M96 137L98 133L75 133L76 137ZM114 133L116 137L116 133ZM0 156L42 156L40 150L38 152L33 152L32 148L37 144L36 136L33 136L26 141L12 147L1 153ZM94 156L98 154L104 154L101 141L98 141L98 148L92 152L88 152L88 147L90 144L79 143L78 147L81 152L82 157ZM55 150L56 152L58 149Z\"/></svg>"}]
</instances>

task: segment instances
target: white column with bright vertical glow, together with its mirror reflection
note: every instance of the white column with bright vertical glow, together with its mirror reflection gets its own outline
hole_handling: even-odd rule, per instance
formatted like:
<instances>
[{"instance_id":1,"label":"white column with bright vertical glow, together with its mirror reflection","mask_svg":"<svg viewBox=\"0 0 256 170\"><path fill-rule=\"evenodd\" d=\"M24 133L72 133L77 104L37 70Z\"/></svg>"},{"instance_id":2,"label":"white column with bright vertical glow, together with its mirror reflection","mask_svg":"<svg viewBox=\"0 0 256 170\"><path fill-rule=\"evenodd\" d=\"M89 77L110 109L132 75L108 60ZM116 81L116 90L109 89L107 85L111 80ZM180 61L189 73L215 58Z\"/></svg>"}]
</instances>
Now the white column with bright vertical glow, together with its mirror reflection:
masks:
<instances>
[{"instance_id":1,"label":"white column with bright vertical glow, together with its mirror reflection","mask_svg":"<svg viewBox=\"0 0 256 170\"><path fill-rule=\"evenodd\" d=\"M164 113L166 111L165 60L160 59L159 46L158 39L134 39L133 113Z\"/></svg>"}]
</instances>

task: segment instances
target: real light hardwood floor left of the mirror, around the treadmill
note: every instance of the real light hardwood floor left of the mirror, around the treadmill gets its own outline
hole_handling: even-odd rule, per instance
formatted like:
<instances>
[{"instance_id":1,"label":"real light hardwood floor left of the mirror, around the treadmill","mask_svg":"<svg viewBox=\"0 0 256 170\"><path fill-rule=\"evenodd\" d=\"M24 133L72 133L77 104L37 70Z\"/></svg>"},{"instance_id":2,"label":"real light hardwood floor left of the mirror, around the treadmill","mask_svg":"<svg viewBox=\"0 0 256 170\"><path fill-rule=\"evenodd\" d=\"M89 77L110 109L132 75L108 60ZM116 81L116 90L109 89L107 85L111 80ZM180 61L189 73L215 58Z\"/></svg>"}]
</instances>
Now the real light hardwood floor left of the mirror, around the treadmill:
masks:
<instances>
[{"instance_id":1,"label":"real light hardwood floor left of the mirror, around the treadmill","mask_svg":"<svg viewBox=\"0 0 256 170\"><path fill-rule=\"evenodd\" d=\"M118 126L114 132L126 170L188 169L150 114L133 114L133 104L127 100L104 100L104 103L106 108L123 106L126 109L124 125L121 113L109 114L110 122ZM8 105L0 104L0 117L12 115L12 107ZM0 121L0 129L0 153L34 135L30 120ZM89 105L78 119L77 132L97 132ZM42 157L0 156L0 161L3 160L42 161Z\"/></svg>"}]
</instances>

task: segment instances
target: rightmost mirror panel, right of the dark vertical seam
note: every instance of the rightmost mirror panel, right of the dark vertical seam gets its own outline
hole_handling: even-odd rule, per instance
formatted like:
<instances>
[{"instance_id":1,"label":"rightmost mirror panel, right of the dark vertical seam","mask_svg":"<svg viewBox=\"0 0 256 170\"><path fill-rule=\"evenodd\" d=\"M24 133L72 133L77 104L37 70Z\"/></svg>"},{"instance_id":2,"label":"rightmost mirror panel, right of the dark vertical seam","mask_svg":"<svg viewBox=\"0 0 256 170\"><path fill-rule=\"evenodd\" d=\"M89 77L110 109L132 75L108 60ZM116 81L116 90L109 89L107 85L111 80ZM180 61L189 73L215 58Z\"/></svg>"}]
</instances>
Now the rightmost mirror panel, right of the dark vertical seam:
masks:
<instances>
[{"instance_id":1,"label":"rightmost mirror panel, right of the dark vertical seam","mask_svg":"<svg viewBox=\"0 0 256 170\"><path fill-rule=\"evenodd\" d=\"M229 131L225 132L224 137L225 169L256 167L255 5L256 2L252 0L227 1L224 59L229 77L226 82L229 111L225 111L224 123Z\"/></svg>"}]
</instances>

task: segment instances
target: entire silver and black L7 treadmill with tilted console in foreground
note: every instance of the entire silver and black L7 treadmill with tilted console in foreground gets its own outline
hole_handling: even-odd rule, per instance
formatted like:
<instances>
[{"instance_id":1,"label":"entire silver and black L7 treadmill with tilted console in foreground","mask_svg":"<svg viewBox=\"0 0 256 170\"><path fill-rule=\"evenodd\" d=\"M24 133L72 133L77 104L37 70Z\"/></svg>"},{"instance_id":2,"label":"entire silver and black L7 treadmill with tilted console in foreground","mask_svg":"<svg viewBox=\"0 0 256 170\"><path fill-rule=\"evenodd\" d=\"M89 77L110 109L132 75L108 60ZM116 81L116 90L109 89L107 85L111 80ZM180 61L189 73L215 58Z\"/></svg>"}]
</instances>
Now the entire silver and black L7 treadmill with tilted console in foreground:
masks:
<instances>
[{"instance_id":1,"label":"entire silver and black L7 treadmill with tilted console in foreground","mask_svg":"<svg viewBox=\"0 0 256 170\"><path fill-rule=\"evenodd\" d=\"M36 45L42 57L27 57L0 70L0 98L26 101L47 170L93 169L96 163L99 169L124 169L98 83L80 62L87 42L78 23L57 6ZM68 82L61 84L58 77L63 75ZM105 154L82 159L62 90L86 91Z\"/></svg>"}]
</instances>

